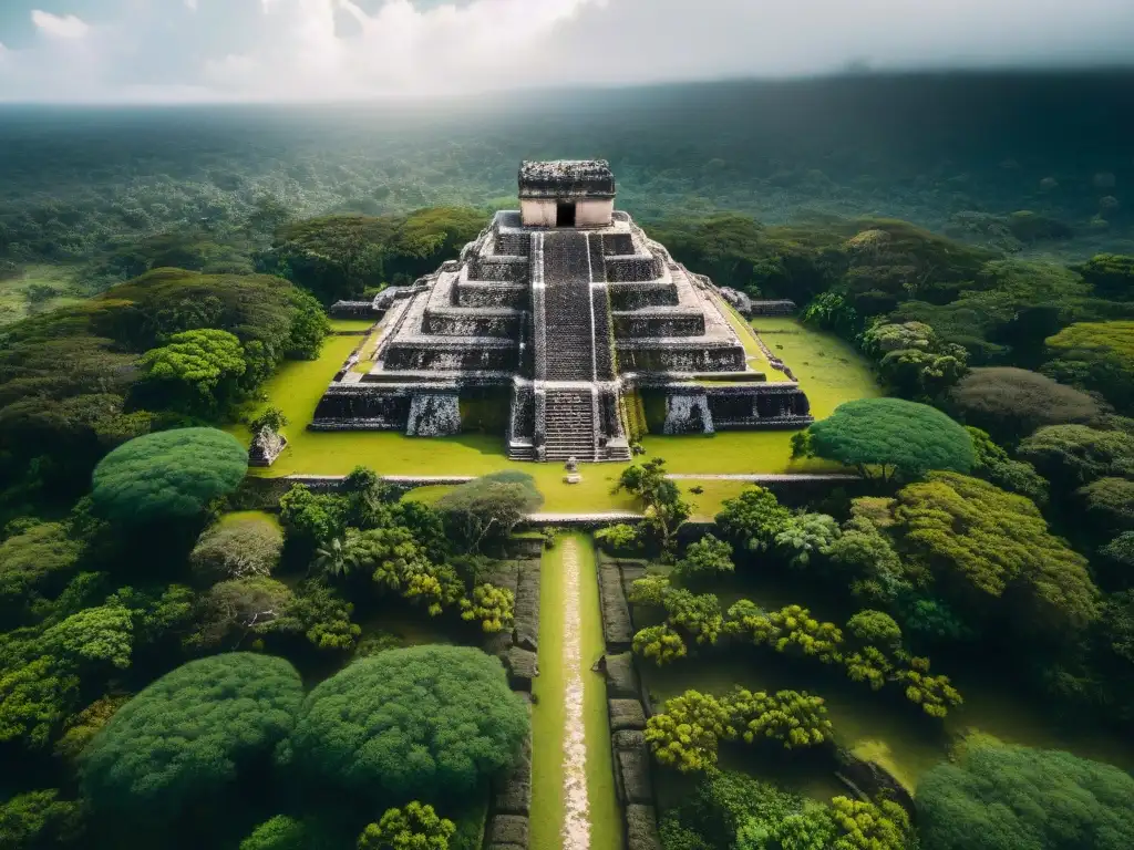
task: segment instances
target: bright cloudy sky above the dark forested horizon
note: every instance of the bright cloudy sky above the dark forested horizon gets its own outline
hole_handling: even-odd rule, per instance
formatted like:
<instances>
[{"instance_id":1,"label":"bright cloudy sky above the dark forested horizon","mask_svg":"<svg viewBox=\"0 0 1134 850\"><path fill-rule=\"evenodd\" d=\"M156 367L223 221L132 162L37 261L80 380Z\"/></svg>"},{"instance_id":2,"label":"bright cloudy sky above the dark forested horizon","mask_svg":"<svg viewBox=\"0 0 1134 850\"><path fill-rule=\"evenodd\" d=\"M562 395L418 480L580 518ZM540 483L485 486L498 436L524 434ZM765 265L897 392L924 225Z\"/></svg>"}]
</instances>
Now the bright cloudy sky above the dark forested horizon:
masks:
<instances>
[{"instance_id":1,"label":"bright cloudy sky above the dark forested horizon","mask_svg":"<svg viewBox=\"0 0 1134 850\"><path fill-rule=\"evenodd\" d=\"M0 100L1134 65L1134 0L0 0Z\"/></svg>"}]
</instances>

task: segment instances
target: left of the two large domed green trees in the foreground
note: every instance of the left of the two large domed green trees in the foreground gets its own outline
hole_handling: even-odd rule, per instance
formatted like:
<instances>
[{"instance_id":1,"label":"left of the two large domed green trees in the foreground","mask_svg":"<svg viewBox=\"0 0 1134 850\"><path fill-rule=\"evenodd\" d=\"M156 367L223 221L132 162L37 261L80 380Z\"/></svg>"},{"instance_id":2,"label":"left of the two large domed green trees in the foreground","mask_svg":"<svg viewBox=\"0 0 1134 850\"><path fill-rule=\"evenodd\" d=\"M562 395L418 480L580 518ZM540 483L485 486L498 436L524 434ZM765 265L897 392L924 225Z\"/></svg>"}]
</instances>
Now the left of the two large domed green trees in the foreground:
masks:
<instances>
[{"instance_id":1,"label":"left of the two large domed green trees in the foreground","mask_svg":"<svg viewBox=\"0 0 1134 850\"><path fill-rule=\"evenodd\" d=\"M79 781L100 814L170 823L228 792L291 729L303 683L282 658L191 661L122 706L84 750Z\"/></svg>"}]
</instances>

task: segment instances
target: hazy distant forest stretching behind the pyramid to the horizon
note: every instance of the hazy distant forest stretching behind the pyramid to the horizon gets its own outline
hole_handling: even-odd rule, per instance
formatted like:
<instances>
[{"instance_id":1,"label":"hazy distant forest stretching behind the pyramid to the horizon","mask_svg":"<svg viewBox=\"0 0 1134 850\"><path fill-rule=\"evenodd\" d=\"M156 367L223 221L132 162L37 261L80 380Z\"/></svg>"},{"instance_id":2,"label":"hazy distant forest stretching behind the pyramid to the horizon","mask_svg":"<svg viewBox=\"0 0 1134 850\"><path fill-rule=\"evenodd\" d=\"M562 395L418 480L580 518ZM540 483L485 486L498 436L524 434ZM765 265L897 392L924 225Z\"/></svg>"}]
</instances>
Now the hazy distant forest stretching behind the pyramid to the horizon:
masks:
<instances>
[{"instance_id":1,"label":"hazy distant forest stretching behind the pyramid to the horizon","mask_svg":"<svg viewBox=\"0 0 1134 850\"><path fill-rule=\"evenodd\" d=\"M1132 82L863 75L337 107L8 107L0 261L225 232L264 203L297 216L508 206L522 159L584 156L610 161L619 205L646 222L872 214L988 240L982 216L1030 210L1067 228L1040 247L1086 255L1134 238Z\"/></svg>"}]
</instances>

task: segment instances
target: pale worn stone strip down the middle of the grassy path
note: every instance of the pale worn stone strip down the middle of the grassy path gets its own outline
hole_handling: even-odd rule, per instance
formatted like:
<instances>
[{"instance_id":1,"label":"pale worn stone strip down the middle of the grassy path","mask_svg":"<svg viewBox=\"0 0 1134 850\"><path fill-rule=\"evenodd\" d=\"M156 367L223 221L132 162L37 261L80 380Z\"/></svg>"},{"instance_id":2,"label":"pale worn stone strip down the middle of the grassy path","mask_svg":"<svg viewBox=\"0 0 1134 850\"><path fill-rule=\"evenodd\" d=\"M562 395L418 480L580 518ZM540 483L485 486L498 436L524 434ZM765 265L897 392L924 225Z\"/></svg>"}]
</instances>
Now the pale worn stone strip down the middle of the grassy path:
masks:
<instances>
[{"instance_id":1,"label":"pale worn stone strip down the middle of the grassy path","mask_svg":"<svg viewBox=\"0 0 1134 850\"><path fill-rule=\"evenodd\" d=\"M590 850L591 805L586 789L586 725L583 707L582 622L579 619L579 553L574 538L562 546L564 583L564 850Z\"/></svg>"}]
</instances>

